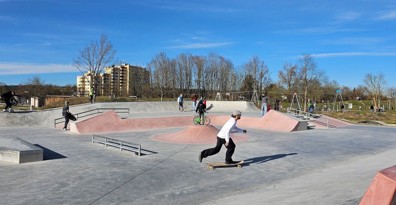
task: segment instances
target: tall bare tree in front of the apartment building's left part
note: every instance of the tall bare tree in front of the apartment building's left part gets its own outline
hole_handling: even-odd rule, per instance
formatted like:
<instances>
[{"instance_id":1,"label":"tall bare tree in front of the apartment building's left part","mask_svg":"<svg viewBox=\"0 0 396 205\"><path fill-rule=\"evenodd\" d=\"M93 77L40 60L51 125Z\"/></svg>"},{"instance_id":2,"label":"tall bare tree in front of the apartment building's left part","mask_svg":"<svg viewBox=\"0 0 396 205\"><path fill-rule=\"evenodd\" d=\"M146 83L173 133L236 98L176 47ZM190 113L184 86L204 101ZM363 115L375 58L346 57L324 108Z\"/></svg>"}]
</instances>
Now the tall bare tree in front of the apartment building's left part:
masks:
<instances>
[{"instance_id":1,"label":"tall bare tree in front of the apartment building's left part","mask_svg":"<svg viewBox=\"0 0 396 205\"><path fill-rule=\"evenodd\" d=\"M118 59L114 59L116 52L113 44L107 39L107 35L102 34L99 42L91 41L83 50L78 50L80 55L76 59L73 58L72 66L76 67L82 75L91 73L91 79L84 76L89 86L93 88L94 101L97 88L102 86L103 77L105 76L101 75L101 73L104 73L105 68L119 63Z\"/></svg>"}]
</instances>

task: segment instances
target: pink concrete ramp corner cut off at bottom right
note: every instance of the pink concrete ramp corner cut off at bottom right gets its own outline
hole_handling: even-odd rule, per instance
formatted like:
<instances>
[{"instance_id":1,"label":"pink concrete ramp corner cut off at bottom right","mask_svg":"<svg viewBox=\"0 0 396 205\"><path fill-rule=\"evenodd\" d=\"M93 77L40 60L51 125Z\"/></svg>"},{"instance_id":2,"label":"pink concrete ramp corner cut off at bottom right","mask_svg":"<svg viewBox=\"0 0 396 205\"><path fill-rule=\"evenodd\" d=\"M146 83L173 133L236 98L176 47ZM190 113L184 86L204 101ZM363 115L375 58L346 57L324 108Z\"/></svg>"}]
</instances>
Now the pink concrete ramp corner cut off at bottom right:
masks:
<instances>
[{"instance_id":1,"label":"pink concrete ramp corner cut off at bottom right","mask_svg":"<svg viewBox=\"0 0 396 205\"><path fill-rule=\"evenodd\" d=\"M396 165L377 172L359 205L396 204Z\"/></svg>"}]
</instances>

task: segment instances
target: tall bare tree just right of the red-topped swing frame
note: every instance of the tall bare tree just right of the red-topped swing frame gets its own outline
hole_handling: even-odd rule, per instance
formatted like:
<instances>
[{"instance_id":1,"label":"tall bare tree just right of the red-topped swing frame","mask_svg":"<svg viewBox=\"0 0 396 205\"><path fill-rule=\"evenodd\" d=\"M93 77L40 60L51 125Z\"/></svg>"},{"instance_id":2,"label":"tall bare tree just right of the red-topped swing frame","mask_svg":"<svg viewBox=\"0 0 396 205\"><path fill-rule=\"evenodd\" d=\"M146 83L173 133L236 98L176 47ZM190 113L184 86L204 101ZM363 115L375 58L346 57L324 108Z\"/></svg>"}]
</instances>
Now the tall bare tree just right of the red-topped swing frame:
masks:
<instances>
[{"instance_id":1,"label":"tall bare tree just right of the red-topped swing frame","mask_svg":"<svg viewBox=\"0 0 396 205\"><path fill-rule=\"evenodd\" d=\"M315 84L323 84L327 81L326 71L319 69L314 57L310 54L303 54L297 59L299 73L301 73L301 88L304 93L304 111L307 110L308 90Z\"/></svg>"}]
</instances>

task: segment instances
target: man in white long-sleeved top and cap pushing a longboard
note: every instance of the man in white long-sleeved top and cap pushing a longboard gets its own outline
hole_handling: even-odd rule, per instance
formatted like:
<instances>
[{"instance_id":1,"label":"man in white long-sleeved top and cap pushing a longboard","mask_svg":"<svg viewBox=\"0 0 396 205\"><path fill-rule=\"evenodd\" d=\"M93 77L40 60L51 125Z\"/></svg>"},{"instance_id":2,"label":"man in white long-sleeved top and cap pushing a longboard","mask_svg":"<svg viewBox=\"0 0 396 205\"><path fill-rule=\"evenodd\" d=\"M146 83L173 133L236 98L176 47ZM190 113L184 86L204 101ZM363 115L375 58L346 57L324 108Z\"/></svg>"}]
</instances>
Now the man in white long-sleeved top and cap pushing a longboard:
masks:
<instances>
[{"instance_id":1,"label":"man in white long-sleeved top and cap pushing a longboard","mask_svg":"<svg viewBox=\"0 0 396 205\"><path fill-rule=\"evenodd\" d=\"M225 154L225 164L232 165L238 163L236 161L232 161L232 154L234 154L236 146L232 141L232 139L230 138L230 132L232 130L236 130L238 132L246 133L246 130L242 130L236 127L236 121L241 119L241 115L242 113L239 110L236 110L234 111L234 113L232 113L231 118L227 121L227 123L225 123L225 125L223 125L220 132L217 134L216 146L214 148L205 149L204 151L201 151L198 155L199 162L202 162L202 159L206 157L219 153L221 147L224 144L225 147L227 148L227 152Z\"/></svg>"}]
</instances>

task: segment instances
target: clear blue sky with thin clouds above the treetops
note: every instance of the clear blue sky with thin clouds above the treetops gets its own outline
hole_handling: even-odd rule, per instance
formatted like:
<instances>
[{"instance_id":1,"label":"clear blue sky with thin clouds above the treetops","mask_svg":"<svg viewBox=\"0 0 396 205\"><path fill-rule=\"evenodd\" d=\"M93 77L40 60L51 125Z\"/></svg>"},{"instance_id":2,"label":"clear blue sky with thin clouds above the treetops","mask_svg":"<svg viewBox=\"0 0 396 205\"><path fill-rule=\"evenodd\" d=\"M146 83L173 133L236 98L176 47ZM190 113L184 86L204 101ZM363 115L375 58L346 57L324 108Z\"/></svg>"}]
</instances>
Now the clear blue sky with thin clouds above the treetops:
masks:
<instances>
[{"instance_id":1,"label":"clear blue sky with thin clouds above the treetops","mask_svg":"<svg viewBox=\"0 0 396 205\"><path fill-rule=\"evenodd\" d=\"M146 64L213 51L234 65L258 55L277 79L309 53L342 85L382 71L396 86L396 1L0 0L0 82L76 83L78 50L107 34L116 56Z\"/></svg>"}]
</instances>

